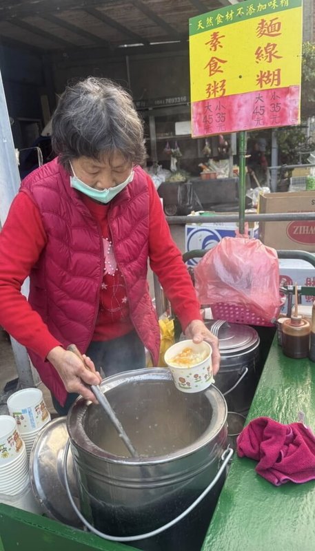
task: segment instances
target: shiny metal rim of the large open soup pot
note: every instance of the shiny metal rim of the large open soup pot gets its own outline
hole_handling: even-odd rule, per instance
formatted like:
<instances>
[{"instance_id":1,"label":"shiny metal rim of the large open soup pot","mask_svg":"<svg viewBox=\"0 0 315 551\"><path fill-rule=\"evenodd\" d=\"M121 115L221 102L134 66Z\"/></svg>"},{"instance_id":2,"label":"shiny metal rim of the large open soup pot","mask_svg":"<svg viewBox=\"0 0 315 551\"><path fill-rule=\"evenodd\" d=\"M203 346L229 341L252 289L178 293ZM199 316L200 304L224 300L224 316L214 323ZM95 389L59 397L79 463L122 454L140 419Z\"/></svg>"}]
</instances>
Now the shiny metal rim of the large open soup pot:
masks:
<instances>
[{"instance_id":1,"label":"shiny metal rim of the large open soup pot","mask_svg":"<svg viewBox=\"0 0 315 551\"><path fill-rule=\"evenodd\" d=\"M109 392L112 388L116 388L116 386L119 386L119 384L125 383L126 378L127 380L131 379L142 381L145 379L162 381L173 380L172 374L167 368L143 368L136 369L134 371L124 371L123 373L111 375L110 377L107 377L105 380L103 380L100 385L101 389L102 391L105 391L105 393ZM67 417L67 430L72 450L73 447L80 448L83 453L90 455L96 459L106 460L114 464L123 463L132 466L169 463L170 461L179 460L183 457L191 455L192 453L196 453L196 451L204 448L207 444L210 444L210 442L221 433L221 431L224 427L226 427L227 424L227 404L225 402L223 394L221 393L221 391L219 391L219 388L211 385L202 392L207 396L210 404L212 404L214 414L216 415L214 426L212 426L212 430L210 431L210 433L209 430L206 429L203 434L194 441L194 444L190 444L190 446L185 446L185 448L176 450L176 452L167 454L165 456L159 455L156 457L139 457L139 459L137 459L136 457L124 457L121 455L111 454L103 450L103 448L99 448L99 446L97 446L92 440L90 440L90 438L83 430L82 420L88 410L88 407L91 405L91 402L79 396L74 404L72 404ZM223 414L221 415L221 420L219 417L219 413Z\"/></svg>"}]
</instances>

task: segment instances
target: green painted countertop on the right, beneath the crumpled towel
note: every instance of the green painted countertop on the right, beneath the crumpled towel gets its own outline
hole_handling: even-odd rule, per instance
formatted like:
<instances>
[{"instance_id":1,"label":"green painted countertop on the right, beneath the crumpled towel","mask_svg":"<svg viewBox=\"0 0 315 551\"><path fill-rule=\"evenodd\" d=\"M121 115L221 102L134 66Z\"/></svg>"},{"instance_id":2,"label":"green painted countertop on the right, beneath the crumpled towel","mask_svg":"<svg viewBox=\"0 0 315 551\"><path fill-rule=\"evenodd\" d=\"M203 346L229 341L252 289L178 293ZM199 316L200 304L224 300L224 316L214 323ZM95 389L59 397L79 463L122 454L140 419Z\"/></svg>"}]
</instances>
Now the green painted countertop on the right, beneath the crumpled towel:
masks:
<instances>
[{"instance_id":1,"label":"green painted countertop on the right, beneath the crumpled towel","mask_svg":"<svg viewBox=\"0 0 315 551\"><path fill-rule=\"evenodd\" d=\"M291 360L272 344L247 422L265 415L315 430L315 364ZM273 486L256 461L234 457L202 551L314 551L315 481Z\"/></svg>"}]
</instances>

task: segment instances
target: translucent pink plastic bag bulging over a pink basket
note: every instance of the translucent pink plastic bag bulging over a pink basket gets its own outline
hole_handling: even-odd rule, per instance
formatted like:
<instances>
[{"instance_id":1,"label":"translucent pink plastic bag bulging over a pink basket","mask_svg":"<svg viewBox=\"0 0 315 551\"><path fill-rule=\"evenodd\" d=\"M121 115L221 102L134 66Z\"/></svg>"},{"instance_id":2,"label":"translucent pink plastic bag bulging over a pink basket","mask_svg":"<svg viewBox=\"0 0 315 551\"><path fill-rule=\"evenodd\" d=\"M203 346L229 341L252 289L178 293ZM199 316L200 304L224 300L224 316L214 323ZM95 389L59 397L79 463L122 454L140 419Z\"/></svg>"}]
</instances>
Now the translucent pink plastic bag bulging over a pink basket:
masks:
<instances>
[{"instance_id":1,"label":"translucent pink plastic bag bulging over a pink basket","mask_svg":"<svg viewBox=\"0 0 315 551\"><path fill-rule=\"evenodd\" d=\"M226 306L214 318L267 325L278 316L282 304L278 256L258 239L223 238L197 264L194 278L199 301L209 304L213 315L219 306ZM250 316L242 318L238 315L242 311Z\"/></svg>"}]
</instances>

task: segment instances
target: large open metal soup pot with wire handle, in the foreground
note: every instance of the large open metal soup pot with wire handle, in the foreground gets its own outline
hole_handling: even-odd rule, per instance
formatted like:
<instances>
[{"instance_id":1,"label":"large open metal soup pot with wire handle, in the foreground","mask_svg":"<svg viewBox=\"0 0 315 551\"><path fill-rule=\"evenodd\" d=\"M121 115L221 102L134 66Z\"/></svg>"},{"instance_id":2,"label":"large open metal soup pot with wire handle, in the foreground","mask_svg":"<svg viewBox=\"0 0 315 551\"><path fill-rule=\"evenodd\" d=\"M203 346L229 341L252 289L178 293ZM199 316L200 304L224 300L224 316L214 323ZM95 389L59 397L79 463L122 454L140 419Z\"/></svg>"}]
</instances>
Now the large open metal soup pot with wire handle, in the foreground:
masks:
<instances>
[{"instance_id":1,"label":"large open metal soup pot with wire handle, in the foreground","mask_svg":"<svg viewBox=\"0 0 315 551\"><path fill-rule=\"evenodd\" d=\"M101 387L141 457L124 457L103 411L78 399L67 426L81 511L106 534L147 533L183 512L214 479L227 442L225 399L214 386L181 393L163 368L120 373ZM199 550L223 478L187 518L134 547Z\"/></svg>"}]
</instances>

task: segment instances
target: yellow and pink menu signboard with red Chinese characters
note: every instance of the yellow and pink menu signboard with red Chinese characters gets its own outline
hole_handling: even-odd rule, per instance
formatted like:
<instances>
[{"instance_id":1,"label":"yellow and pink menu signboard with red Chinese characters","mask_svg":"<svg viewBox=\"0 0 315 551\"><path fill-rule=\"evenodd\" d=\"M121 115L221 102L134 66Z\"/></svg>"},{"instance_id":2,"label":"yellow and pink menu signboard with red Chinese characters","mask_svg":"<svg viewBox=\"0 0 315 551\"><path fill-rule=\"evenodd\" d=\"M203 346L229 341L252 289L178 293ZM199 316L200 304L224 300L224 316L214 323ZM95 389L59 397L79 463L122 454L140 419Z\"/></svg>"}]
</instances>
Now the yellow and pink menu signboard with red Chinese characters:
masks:
<instances>
[{"instance_id":1,"label":"yellow and pink menu signboard with red Chinese characters","mask_svg":"<svg viewBox=\"0 0 315 551\"><path fill-rule=\"evenodd\" d=\"M192 136L300 123L302 0L190 19Z\"/></svg>"}]
</instances>

